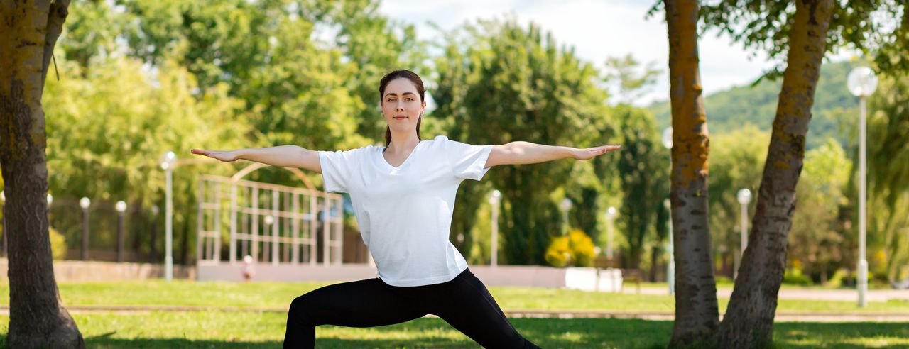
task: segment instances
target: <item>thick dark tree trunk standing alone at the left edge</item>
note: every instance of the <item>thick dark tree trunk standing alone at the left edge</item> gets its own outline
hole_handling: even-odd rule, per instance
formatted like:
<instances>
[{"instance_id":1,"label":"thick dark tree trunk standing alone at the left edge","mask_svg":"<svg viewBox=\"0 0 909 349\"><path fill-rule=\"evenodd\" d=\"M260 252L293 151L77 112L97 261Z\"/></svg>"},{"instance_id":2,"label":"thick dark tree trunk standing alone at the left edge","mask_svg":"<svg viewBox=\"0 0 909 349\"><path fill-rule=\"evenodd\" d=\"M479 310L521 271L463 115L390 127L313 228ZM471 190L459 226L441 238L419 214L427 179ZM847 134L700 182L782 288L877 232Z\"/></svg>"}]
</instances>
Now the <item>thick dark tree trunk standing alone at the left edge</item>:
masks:
<instances>
[{"instance_id":1,"label":"thick dark tree trunk standing alone at the left edge","mask_svg":"<svg viewBox=\"0 0 909 349\"><path fill-rule=\"evenodd\" d=\"M45 76L69 1L0 1L0 166L9 233L9 334L14 348L82 348L60 301L47 230Z\"/></svg>"}]
</instances>

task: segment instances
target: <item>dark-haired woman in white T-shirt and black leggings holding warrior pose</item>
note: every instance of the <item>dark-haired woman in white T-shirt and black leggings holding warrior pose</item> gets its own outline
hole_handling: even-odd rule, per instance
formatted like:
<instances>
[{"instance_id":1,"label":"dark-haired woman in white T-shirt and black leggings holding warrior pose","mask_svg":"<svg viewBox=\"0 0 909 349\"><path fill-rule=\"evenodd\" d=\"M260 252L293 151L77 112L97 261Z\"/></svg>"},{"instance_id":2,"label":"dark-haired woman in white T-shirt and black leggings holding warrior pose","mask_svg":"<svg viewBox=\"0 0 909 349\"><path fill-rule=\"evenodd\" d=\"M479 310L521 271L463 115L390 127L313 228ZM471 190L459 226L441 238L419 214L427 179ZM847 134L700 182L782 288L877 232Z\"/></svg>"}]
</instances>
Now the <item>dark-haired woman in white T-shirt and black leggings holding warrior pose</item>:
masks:
<instances>
[{"instance_id":1,"label":"dark-haired woman in white T-shirt and black leggings holding warrior pose","mask_svg":"<svg viewBox=\"0 0 909 349\"><path fill-rule=\"evenodd\" d=\"M420 139L426 107L419 76L408 70L379 84L388 127L385 146L337 152L296 145L193 154L244 159L321 173L325 191L349 193L378 278L332 284L297 297L287 314L285 348L311 348L315 326L372 327L435 314L489 348L536 347L508 322L493 296L448 242L454 194L464 179L480 180L494 165L591 159L618 145L575 149L512 142L465 145L445 136Z\"/></svg>"}]
</instances>

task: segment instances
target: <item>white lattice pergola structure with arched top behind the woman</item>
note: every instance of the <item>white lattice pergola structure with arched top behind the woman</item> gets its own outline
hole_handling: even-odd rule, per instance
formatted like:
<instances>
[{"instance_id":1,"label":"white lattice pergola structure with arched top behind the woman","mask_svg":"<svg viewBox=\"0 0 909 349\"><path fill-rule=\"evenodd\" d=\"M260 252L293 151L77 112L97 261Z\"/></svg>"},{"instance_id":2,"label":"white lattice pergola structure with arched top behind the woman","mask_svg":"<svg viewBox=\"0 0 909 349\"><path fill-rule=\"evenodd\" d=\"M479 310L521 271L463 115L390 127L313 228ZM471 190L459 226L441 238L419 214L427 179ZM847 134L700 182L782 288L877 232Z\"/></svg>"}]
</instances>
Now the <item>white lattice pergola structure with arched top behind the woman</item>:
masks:
<instances>
[{"instance_id":1,"label":"white lattice pergola structure with arched top behind the woman","mask_svg":"<svg viewBox=\"0 0 909 349\"><path fill-rule=\"evenodd\" d=\"M196 255L200 273L202 266L242 264L245 255L258 265L315 266L320 259L320 265L341 265L342 196L315 190L296 168L287 169L306 188L242 179L262 167L250 165L230 178L204 175L199 179ZM222 246L227 247L226 254Z\"/></svg>"}]
</instances>

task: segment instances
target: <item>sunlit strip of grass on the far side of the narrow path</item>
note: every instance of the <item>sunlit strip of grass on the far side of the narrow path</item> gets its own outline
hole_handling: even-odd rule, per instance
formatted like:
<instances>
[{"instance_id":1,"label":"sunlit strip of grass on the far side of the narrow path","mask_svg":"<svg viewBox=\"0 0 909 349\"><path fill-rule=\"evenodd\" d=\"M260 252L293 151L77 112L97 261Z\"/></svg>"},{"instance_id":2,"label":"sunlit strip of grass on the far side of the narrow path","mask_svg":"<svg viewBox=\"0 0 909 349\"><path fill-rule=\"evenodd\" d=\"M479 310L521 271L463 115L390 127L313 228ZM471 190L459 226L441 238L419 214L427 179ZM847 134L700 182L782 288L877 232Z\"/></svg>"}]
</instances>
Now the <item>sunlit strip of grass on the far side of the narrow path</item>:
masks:
<instances>
[{"instance_id":1,"label":"sunlit strip of grass on the far side of the narrow path","mask_svg":"<svg viewBox=\"0 0 909 349\"><path fill-rule=\"evenodd\" d=\"M226 283L144 281L60 284L67 305L185 305L213 307L285 308L298 295L327 283ZM505 309L607 310L672 312L674 298L664 294L606 294L540 287L490 287ZM8 285L0 284L0 304L9 304ZM729 302L719 299L720 311ZM781 312L890 312L909 314L909 302L854 302L780 300Z\"/></svg>"}]
</instances>

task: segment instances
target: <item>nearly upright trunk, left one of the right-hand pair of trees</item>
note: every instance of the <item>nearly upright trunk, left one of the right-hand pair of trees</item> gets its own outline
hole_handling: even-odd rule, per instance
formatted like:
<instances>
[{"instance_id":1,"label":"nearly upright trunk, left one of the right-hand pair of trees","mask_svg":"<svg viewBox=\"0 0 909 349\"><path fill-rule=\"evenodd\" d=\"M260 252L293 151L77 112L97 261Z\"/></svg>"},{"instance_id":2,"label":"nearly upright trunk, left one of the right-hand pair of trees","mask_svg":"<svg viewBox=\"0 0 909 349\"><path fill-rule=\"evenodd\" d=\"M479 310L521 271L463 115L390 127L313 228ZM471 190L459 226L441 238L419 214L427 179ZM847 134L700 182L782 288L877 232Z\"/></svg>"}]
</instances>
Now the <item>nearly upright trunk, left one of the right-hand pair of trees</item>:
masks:
<instances>
[{"instance_id":1,"label":"nearly upright trunk, left one of the right-hand pair of trees","mask_svg":"<svg viewBox=\"0 0 909 349\"><path fill-rule=\"evenodd\" d=\"M719 324L707 215L707 115L698 67L696 0L664 1L673 124L675 324L671 346L703 342Z\"/></svg>"}]
</instances>

